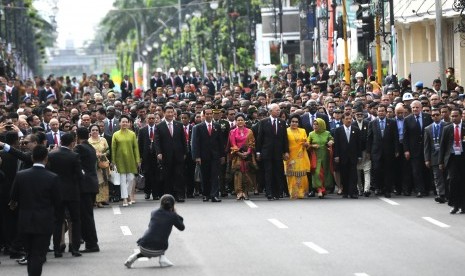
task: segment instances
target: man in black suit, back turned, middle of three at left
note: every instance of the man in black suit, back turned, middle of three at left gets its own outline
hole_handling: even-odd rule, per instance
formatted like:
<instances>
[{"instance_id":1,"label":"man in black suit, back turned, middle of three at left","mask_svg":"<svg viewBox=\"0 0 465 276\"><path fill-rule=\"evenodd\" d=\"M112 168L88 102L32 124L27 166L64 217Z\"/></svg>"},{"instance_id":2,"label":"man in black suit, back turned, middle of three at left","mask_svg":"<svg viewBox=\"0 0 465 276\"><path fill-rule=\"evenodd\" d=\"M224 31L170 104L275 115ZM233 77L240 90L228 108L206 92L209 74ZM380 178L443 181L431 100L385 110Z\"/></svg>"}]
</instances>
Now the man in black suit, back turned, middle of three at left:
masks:
<instances>
[{"instance_id":1,"label":"man in black suit, back turned, middle of three at left","mask_svg":"<svg viewBox=\"0 0 465 276\"><path fill-rule=\"evenodd\" d=\"M71 253L75 257L81 256L79 246L81 244L81 214L80 214L80 185L82 181L81 161L79 155L72 151L75 144L74 134L66 133L61 137L61 146L52 151L48 158L48 168L60 177L60 189L62 201L56 210L55 230L53 232L53 248L55 258L63 256L60 250L62 225L65 217L65 209L68 209L73 223Z\"/></svg>"}]
</instances>

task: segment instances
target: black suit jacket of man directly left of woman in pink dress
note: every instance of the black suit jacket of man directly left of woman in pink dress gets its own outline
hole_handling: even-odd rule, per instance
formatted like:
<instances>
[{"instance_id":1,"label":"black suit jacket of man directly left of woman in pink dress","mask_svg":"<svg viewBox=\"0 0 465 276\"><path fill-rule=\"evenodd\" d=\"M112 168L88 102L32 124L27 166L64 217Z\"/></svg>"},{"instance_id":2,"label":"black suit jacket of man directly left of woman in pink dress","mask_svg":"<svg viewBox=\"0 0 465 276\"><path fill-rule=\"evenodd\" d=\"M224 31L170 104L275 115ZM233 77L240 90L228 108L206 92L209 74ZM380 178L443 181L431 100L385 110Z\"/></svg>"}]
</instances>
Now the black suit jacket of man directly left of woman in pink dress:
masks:
<instances>
[{"instance_id":1,"label":"black suit jacket of man directly left of woman in pink dress","mask_svg":"<svg viewBox=\"0 0 465 276\"><path fill-rule=\"evenodd\" d=\"M220 125L212 124L211 135L208 134L206 122L196 125L192 141L192 156L194 159L200 158L202 161L218 162L225 156L224 141L220 130Z\"/></svg>"}]
</instances>

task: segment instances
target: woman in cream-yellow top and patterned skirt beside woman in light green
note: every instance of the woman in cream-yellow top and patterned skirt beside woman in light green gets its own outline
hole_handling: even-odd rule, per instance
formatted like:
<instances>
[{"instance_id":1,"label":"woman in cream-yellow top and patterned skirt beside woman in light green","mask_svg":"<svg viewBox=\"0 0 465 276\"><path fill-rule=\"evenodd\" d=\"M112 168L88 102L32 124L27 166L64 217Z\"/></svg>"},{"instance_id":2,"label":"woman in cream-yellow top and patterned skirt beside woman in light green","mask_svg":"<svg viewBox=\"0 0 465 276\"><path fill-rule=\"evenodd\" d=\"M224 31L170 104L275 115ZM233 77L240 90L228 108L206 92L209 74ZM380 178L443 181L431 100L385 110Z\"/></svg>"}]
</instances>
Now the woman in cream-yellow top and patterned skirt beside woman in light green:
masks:
<instances>
[{"instance_id":1,"label":"woman in cream-yellow top and patterned skirt beside woman in light green","mask_svg":"<svg viewBox=\"0 0 465 276\"><path fill-rule=\"evenodd\" d=\"M100 136L101 128L98 125L91 125L89 127L90 138L89 144L94 147L95 152L97 153L97 158L99 160L108 160L110 154L110 147L108 146L107 140ZM97 168L97 178L99 192L95 198L97 207L102 208L103 205L107 204L109 200L109 190L108 190L108 177L110 175L109 168Z\"/></svg>"}]
</instances>

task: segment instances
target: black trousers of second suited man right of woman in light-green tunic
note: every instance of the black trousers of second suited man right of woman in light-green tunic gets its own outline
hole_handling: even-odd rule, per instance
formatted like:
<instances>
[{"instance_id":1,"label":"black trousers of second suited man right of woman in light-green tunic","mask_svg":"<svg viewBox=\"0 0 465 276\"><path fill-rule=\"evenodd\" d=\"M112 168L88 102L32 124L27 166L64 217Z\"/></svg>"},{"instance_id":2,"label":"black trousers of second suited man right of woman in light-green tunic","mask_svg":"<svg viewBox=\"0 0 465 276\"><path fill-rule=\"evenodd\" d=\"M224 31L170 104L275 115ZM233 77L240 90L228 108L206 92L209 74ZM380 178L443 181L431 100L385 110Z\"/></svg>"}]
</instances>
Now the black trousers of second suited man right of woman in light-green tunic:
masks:
<instances>
[{"instance_id":1,"label":"black trousers of second suited man right of woman in light-green tunic","mask_svg":"<svg viewBox=\"0 0 465 276\"><path fill-rule=\"evenodd\" d=\"M184 160L163 161L163 192L176 197L186 196L186 185L183 182Z\"/></svg>"}]
</instances>

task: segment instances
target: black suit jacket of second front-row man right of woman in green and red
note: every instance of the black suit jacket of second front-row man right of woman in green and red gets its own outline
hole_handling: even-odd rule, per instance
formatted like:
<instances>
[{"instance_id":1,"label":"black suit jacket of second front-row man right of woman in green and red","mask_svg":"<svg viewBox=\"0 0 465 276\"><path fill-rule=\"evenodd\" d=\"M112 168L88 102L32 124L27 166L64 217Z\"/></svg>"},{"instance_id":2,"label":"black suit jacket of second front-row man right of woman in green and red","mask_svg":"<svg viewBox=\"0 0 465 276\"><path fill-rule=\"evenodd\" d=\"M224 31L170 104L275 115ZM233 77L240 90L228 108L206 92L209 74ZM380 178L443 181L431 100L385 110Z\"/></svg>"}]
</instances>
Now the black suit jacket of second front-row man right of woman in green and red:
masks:
<instances>
[{"instance_id":1,"label":"black suit jacket of second front-row man right of woman in green and red","mask_svg":"<svg viewBox=\"0 0 465 276\"><path fill-rule=\"evenodd\" d=\"M384 136L381 135L379 118L371 121L367 139L367 152L373 161L379 161L381 158L394 160L396 153L399 153L397 122L393 119L385 118Z\"/></svg>"}]
</instances>

